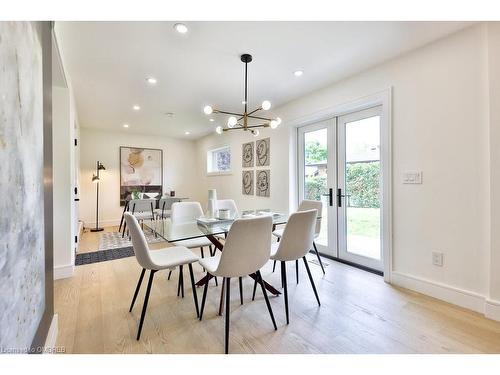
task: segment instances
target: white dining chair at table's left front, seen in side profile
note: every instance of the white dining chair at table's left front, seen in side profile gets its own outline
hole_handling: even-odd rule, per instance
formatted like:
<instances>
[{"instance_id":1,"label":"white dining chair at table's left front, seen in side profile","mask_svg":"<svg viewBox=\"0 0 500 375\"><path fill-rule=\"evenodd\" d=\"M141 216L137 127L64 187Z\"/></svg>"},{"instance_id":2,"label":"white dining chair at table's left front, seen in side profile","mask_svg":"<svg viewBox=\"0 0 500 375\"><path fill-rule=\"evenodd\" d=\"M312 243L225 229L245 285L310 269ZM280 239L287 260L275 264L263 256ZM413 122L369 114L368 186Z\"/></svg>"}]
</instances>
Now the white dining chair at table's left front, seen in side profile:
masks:
<instances>
[{"instance_id":1,"label":"white dining chair at table's left front, seen in side profile","mask_svg":"<svg viewBox=\"0 0 500 375\"><path fill-rule=\"evenodd\" d=\"M167 247L164 249L150 251L148 243L146 241L146 237L144 236L144 232L141 230L137 219L129 212L126 212L124 215L125 222L127 223L130 237L132 239L135 257L139 265L142 267L141 275L139 276L139 281L137 283L137 287L135 288L134 297L132 298L129 312L132 312L132 308L134 307L135 300L137 299L137 295L139 294L139 290L141 288L144 274L146 273L146 270L150 270L148 286L146 289L146 295L144 297L144 304L142 306L141 319L139 321L139 329L137 330L137 340L139 340L141 337L142 325L144 323L144 317L146 316L146 309L148 307L149 294L153 285L154 275L157 271L177 266L182 269L184 265L188 265L194 305L196 308L196 316L199 317L198 298L196 296L196 286L194 284L192 265L194 262L198 261L198 256L196 256L192 251L183 246Z\"/></svg>"}]
</instances>

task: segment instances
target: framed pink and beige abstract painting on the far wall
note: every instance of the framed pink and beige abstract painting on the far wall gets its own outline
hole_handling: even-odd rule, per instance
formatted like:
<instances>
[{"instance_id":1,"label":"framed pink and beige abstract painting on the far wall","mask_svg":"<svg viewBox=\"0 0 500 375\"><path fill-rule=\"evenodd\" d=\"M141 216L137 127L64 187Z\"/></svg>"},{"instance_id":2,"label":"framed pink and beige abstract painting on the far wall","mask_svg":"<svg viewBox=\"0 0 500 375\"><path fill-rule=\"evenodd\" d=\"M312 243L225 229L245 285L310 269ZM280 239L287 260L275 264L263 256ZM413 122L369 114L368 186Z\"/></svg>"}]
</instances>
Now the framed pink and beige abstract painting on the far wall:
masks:
<instances>
[{"instance_id":1,"label":"framed pink and beige abstract painting on the far wall","mask_svg":"<svg viewBox=\"0 0 500 375\"><path fill-rule=\"evenodd\" d=\"M163 151L151 148L120 147L120 203L133 192L162 195Z\"/></svg>"}]
</instances>

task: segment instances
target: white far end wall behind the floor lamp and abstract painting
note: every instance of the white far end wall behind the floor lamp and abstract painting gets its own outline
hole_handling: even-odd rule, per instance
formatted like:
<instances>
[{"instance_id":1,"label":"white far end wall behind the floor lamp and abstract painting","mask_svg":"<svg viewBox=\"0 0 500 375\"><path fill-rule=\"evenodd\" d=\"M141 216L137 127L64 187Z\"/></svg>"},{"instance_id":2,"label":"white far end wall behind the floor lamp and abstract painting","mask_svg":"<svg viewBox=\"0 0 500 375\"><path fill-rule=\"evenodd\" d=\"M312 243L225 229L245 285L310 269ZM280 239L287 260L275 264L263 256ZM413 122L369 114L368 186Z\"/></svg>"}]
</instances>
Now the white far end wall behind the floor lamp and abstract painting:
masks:
<instances>
[{"instance_id":1,"label":"white far end wall behind the floor lamp and abstract painting","mask_svg":"<svg viewBox=\"0 0 500 375\"><path fill-rule=\"evenodd\" d=\"M80 219L85 227L95 225L96 185L92 183L96 161L104 164L99 186L99 223L117 225L120 207L120 146L163 150L163 189L173 189L177 196L198 199L196 148L192 141L168 137L108 132L80 128Z\"/></svg>"}]
</instances>

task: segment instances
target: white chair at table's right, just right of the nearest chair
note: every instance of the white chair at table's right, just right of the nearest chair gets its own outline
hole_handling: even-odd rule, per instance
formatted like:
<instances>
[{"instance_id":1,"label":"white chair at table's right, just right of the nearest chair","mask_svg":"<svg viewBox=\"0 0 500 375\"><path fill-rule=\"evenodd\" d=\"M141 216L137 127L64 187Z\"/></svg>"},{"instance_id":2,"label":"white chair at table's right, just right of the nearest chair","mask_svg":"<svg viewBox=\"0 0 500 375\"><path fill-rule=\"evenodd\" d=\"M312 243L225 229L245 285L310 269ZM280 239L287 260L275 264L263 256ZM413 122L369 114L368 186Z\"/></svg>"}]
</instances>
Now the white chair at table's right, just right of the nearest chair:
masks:
<instances>
[{"instance_id":1,"label":"white chair at table's right, just right of the nearest chair","mask_svg":"<svg viewBox=\"0 0 500 375\"><path fill-rule=\"evenodd\" d=\"M297 211L290 215L288 222L283 230L281 236L281 241L275 243L271 246L271 259L281 262L281 283L284 288L285 297L285 313L286 313L286 323L290 322L288 313L288 287L286 280L286 262L288 261L298 261L300 258L304 261L304 265L309 276L309 281L318 301L318 305L321 306L319 300L318 292L316 286L314 285L314 280L311 275L311 270L309 269L309 264L307 263L306 254L311 249L312 242L314 240L314 232L316 226L316 218L318 211L316 209L307 211ZM254 296L255 296L256 284L254 284Z\"/></svg>"}]
</instances>

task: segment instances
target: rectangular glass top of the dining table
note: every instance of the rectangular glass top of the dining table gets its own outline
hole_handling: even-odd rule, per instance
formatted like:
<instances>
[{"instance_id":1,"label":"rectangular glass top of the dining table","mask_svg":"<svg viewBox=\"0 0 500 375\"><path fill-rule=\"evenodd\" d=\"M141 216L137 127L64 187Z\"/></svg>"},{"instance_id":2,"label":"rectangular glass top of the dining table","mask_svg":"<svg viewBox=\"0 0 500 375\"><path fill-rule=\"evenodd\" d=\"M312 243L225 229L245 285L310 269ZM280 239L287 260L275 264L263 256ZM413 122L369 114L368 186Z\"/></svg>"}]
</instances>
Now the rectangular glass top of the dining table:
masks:
<instances>
[{"instance_id":1,"label":"rectangular glass top of the dining table","mask_svg":"<svg viewBox=\"0 0 500 375\"><path fill-rule=\"evenodd\" d=\"M167 218L162 220L147 220L144 221L144 225L167 242L178 242L199 237L208 237L212 241L212 237L229 232L229 229L235 219L259 217L264 215L272 216L273 230L276 225L285 224L289 217L288 214L273 212L269 209L261 209L242 211L240 214L233 215L227 220L200 218L200 222L193 220L182 224L174 224ZM201 223L202 220L203 223ZM214 243L214 245L219 250L222 250L222 244Z\"/></svg>"}]
</instances>

